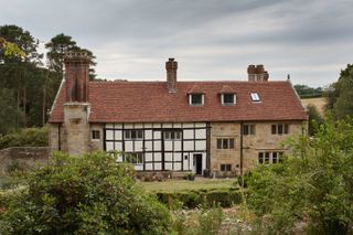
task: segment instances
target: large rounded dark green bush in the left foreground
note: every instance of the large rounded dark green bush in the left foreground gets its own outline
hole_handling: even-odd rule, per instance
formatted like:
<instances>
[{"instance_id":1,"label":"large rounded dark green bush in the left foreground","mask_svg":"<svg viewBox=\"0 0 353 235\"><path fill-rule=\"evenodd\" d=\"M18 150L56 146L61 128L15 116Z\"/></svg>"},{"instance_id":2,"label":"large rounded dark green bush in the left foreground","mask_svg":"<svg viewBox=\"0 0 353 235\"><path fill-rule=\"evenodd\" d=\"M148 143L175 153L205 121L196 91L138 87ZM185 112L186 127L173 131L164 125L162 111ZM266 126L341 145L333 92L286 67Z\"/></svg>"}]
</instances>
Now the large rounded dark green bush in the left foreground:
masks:
<instances>
[{"instance_id":1,"label":"large rounded dark green bush in the left foreground","mask_svg":"<svg viewBox=\"0 0 353 235\"><path fill-rule=\"evenodd\" d=\"M56 153L8 200L1 234L168 234L170 214L114 156Z\"/></svg>"}]
</instances>

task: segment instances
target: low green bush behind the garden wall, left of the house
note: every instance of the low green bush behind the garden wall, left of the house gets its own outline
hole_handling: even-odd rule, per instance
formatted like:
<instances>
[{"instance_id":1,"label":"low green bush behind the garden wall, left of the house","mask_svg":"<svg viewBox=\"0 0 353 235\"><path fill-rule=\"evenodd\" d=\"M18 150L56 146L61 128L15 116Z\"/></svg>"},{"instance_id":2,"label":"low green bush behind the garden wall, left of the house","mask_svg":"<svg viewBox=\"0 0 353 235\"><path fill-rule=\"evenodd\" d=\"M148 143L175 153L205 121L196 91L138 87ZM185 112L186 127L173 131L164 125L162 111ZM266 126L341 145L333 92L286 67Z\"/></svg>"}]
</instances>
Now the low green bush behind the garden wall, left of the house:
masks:
<instances>
[{"instance_id":1,"label":"low green bush behind the garden wall, left of the house","mask_svg":"<svg viewBox=\"0 0 353 235\"><path fill-rule=\"evenodd\" d=\"M9 147L46 147L49 145L49 129L26 128L19 132L0 137L0 149Z\"/></svg>"}]
</instances>

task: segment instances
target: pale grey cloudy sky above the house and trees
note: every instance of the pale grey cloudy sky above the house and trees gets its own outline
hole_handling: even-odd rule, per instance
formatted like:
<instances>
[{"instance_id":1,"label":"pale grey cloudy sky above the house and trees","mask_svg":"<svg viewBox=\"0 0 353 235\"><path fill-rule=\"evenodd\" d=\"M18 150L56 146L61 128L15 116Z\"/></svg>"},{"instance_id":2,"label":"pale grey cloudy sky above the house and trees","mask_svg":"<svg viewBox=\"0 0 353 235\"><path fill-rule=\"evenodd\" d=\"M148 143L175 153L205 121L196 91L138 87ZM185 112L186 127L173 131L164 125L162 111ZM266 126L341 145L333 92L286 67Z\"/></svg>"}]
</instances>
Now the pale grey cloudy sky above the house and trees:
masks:
<instances>
[{"instance_id":1,"label":"pale grey cloudy sky above the house and trees","mask_svg":"<svg viewBox=\"0 0 353 235\"><path fill-rule=\"evenodd\" d=\"M352 0L0 0L0 25L44 43L71 35L96 55L98 77L246 81L249 64L269 79L328 86L353 63Z\"/></svg>"}]
</instances>

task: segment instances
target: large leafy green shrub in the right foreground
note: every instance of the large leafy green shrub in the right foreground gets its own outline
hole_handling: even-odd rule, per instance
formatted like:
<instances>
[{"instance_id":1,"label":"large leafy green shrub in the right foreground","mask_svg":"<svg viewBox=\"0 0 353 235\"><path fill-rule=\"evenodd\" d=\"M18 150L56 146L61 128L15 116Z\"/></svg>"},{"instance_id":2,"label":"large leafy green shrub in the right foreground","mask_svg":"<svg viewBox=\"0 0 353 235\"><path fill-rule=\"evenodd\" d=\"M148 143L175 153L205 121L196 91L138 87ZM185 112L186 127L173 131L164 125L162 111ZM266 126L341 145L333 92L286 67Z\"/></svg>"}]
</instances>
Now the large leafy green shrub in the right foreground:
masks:
<instances>
[{"instance_id":1,"label":"large leafy green shrub in the right foreground","mask_svg":"<svg viewBox=\"0 0 353 235\"><path fill-rule=\"evenodd\" d=\"M269 232L346 234L353 221L353 119L319 126L312 138L288 142L284 163L258 165L248 179L250 209ZM352 231L351 231L352 232Z\"/></svg>"}]
</instances>

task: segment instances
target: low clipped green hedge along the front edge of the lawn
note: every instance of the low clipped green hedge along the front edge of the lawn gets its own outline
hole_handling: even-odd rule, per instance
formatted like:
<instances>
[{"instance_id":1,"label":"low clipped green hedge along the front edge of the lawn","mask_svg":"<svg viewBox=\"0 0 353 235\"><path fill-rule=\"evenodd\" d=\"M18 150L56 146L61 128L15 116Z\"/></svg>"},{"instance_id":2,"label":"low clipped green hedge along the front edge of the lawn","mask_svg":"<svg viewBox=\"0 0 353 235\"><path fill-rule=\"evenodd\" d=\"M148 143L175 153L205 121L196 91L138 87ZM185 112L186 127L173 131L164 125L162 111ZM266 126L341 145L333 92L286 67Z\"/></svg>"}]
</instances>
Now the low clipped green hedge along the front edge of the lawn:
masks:
<instances>
[{"instance_id":1,"label":"low clipped green hedge along the front edge of the lawn","mask_svg":"<svg viewBox=\"0 0 353 235\"><path fill-rule=\"evenodd\" d=\"M197 205L215 205L228 207L242 202L240 192L237 189L190 190L182 192L158 192L158 200L172 207L181 202L184 207L194 209Z\"/></svg>"}]
</instances>

